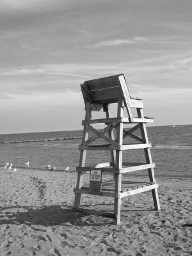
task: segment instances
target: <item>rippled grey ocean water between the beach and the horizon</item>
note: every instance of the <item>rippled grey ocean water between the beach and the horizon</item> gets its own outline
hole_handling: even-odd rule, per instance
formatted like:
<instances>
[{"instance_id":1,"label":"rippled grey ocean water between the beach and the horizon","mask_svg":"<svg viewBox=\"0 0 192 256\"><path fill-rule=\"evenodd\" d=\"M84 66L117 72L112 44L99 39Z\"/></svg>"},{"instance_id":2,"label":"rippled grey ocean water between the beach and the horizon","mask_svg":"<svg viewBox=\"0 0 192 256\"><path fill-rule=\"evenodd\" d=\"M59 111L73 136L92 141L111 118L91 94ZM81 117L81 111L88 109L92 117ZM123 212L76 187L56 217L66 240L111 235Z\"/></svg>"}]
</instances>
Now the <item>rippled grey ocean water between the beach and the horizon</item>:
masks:
<instances>
[{"instance_id":1,"label":"rippled grey ocean water between the beach and the horizon","mask_svg":"<svg viewBox=\"0 0 192 256\"><path fill-rule=\"evenodd\" d=\"M192 177L192 125L147 127L147 133L152 143L156 177ZM4 166L8 161L13 167L26 168L25 163L29 161L30 170L45 170L50 164L56 166L56 170L65 170L69 166L68 172L74 172L79 163L81 136L82 131L1 134L0 165ZM86 164L94 166L108 162L109 157L106 151L88 151ZM143 150L126 150L123 154L123 161L144 160ZM146 170L137 172L145 173Z\"/></svg>"}]
</instances>

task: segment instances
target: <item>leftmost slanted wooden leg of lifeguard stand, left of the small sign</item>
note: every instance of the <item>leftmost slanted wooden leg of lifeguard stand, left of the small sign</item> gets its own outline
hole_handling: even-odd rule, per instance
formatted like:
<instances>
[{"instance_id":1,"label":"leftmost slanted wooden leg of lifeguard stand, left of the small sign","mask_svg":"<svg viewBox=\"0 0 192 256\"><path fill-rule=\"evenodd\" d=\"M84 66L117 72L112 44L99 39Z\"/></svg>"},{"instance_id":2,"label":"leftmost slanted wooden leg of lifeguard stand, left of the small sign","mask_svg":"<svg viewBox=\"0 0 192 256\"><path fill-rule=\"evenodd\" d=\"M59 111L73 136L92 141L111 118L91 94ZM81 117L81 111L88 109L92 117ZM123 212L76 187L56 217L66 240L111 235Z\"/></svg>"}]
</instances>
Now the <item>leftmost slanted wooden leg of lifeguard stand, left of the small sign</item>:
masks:
<instances>
[{"instance_id":1,"label":"leftmost slanted wooden leg of lifeguard stand, left of the small sign","mask_svg":"<svg viewBox=\"0 0 192 256\"><path fill-rule=\"evenodd\" d=\"M90 118L92 117L92 108L90 107L89 103L86 103L85 111L86 112L85 112L85 118L84 119L85 120L90 120ZM86 125L84 125L82 144L86 140L88 140L88 130L86 128ZM79 167L84 167L85 166L85 159L86 159L86 150L81 150L80 157L79 157ZM76 189L79 189L82 186L83 174L84 174L84 172L82 172L82 171L78 171L78 173L77 173ZM81 193L76 193L75 200L74 200L74 209L79 209L80 202L81 202Z\"/></svg>"}]
</instances>

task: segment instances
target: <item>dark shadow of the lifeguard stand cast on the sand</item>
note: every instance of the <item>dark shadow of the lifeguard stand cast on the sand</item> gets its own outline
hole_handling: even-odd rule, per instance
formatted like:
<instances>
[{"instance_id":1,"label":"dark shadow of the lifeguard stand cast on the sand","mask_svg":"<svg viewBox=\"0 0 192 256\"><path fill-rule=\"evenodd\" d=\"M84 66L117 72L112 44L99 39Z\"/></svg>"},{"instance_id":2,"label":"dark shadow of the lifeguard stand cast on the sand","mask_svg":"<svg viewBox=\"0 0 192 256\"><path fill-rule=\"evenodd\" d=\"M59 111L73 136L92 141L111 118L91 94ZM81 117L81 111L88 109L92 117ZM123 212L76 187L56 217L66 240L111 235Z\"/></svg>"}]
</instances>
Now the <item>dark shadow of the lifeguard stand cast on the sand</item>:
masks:
<instances>
[{"instance_id":1,"label":"dark shadow of the lifeguard stand cast on the sand","mask_svg":"<svg viewBox=\"0 0 192 256\"><path fill-rule=\"evenodd\" d=\"M17 212L14 212L17 209ZM13 211L12 211L13 210ZM97 211L79 212L62 205L50 205L43 207L1 207L0 225L3 224L25 224L25 225L43 225L45 227L56 225L78 225L78 226L101 226L113 223L113 220L94 221L95 218L83 218L90 215L97 215Z\"/></svg>"}]
</instances>

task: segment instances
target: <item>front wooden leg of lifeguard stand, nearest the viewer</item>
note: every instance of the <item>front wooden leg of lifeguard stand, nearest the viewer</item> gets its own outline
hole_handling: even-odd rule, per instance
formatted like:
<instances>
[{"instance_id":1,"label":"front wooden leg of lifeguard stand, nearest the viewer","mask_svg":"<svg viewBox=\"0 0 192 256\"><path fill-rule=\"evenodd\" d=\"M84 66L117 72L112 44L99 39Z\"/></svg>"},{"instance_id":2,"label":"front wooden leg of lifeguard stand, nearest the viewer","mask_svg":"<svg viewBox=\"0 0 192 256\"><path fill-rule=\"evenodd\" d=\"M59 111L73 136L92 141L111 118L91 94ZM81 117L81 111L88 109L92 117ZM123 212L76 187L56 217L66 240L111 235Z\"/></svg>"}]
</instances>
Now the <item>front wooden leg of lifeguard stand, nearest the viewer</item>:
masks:
<instances>
[{"instance_id":1,"label":"front wooden leg of lifeguard stand, nearest the viewer","mask_svg":"<svg viewBox=\"0 0 192 256\"><path fill-rule=\"evenodd\" d=\"M119 118L124 117L124 102L122 99L118 99L118 109L117 109L117 116ZM116 127L116 142L120 145L123 144L123 130L124 130L124 124L120 122L118 126ZM118 170L122 168L122 150L116 150L116 161L115 166ZM115 193L116 195L120 195L122 186L122 174L121 173L115 173ZM121 210L121 198L115 198L114 199L114 214L115 214L115 220L114 224L119 225L120 224L120 210Z\"/></svg>"}]
</instances>

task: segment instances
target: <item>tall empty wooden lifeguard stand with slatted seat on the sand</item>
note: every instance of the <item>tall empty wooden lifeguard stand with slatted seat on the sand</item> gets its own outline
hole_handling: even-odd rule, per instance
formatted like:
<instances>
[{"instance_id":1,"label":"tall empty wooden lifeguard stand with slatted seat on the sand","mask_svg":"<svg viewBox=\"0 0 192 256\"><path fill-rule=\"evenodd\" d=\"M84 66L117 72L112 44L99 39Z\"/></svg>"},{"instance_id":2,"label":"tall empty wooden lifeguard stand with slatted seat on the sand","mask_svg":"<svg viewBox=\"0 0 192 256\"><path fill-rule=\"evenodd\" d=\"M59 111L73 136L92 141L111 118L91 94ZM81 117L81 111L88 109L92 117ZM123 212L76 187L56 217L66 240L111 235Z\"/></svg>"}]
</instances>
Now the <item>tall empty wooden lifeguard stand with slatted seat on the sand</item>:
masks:
<instances>
[{"instance_id":1,"label":"tall empty wooden lifeguard stand with slatted seat on the sand","mask_svg":"<svg viewBox=\"0 0 192 256\"><path fill-rule=\"evenodd\" d=\"M153 122L153 118L143 116L143 101L129 95L124 74L93 79L81 84L85 104L85 119L83 121L83 139L79 146L80 159L77 167L77 184L74 189L74 210L81 211L81 194L111 196L114 198L115 225L120 224L121 198L135 195L148 190L152 191L155 210L160 210L157 193L158 185L154 177L155 164L152 163L150 154L151 144L148 142L146 123ZM109 116L109 104L117 103L117 116ZM132 109L136 109L137 116L132 116ZM92 111L106 113L106 118L92 119ZM125 111L127 111L127 117ZM100 131L93 124L104 123L106 127ZM124 124L131 124L129 130L124 129ZM132 125L134 125L132 127ZM133 132L140 129L141 136ZM115 131L116 130L116 131ZM115 132L114 132L115 131ZM92 136L90 137L90 132ZM137 143L123 143L123 139L130 136ZM94 141L102 138L106 144L98 144ZM94 144L93 144L94 143ZM122 152L136 148L144 149L145 163L124 163ZM96 166L86 166L86 150L110 150L111 161L99 163ZM125 173L140 170L148 170L148 182L130 182ZM90 184L83 186L84 173L90 172ZM102 180L105 173L113 173L113 179ZM128 179L127 179L128 178Z\"/></svg>"}]
</instances>

